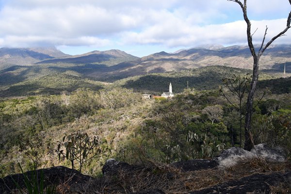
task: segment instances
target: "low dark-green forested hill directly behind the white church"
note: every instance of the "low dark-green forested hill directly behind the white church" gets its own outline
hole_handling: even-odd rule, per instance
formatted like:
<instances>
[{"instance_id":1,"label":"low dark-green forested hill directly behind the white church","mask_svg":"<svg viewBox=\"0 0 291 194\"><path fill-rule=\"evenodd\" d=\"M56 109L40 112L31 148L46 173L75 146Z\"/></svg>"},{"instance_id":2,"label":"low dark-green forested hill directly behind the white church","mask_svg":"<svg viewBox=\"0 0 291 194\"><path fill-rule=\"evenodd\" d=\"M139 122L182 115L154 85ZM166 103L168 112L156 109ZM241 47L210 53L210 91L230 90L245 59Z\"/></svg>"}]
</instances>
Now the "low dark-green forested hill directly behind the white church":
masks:
<instances>
[{"instance_id":1,"label":"low dark-green forested hill directly behind the white church","mask_svg":"<svg viewBox=\"0 0 291 194\"><path fill-rule=\"evenodd\" d=\"M223 85L222 80L224 78L231 78L234 74L245 75L246 73L251 73L251 70L226 66L207 66L179 72L173 71L135 76L115 81L113 84L126 88L132 88L141 93L161 95L162 92L167 92L169 90L169 83L171 82L173 92L177 94L187 88L187 81L189 88L191 89L213 90L218 89L219 85ZM291 76L291 73L286 74L286 76ZM276 80L270 82L268 80L278 78L280 78L280 84L284 81L289 82L285 83L287 86L291 84L290 79L283 79L281 77L282 73L261 70L259 81L265 81L263 81L262 84L259 83L259 87L270 88L272 85L270 83L274 83ZM288 89L291 91L291 89L287 87L286 90ZM273 89L271 91L273 92Z\"/></svg>"}]
</instances>

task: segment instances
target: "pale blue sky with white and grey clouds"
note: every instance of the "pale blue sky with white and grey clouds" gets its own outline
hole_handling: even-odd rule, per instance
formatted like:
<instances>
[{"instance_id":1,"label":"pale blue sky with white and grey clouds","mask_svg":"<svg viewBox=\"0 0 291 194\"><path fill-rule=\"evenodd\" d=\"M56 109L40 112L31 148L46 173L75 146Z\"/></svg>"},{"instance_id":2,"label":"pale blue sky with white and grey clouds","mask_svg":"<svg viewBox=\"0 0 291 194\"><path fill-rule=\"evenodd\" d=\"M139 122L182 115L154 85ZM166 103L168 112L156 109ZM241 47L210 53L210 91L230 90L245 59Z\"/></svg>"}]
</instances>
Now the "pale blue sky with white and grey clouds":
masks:
<instances>
[{"instance_id":1,"label":"pale blue sky with white and grey clouds","mask_svg":"<svg viewBox=\"0 0 291 194\"><path fill-rule=\"evenodd\" d=\"M248 0L253 40L286 27L289 0ZM0 48L56 47L66 54L246 45L239 4L228 0L0 0ZM291 30L275 44L290 44Z\"/></svg>"}]
</instances>

